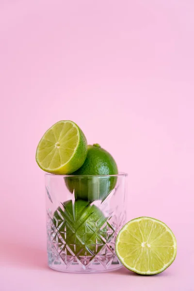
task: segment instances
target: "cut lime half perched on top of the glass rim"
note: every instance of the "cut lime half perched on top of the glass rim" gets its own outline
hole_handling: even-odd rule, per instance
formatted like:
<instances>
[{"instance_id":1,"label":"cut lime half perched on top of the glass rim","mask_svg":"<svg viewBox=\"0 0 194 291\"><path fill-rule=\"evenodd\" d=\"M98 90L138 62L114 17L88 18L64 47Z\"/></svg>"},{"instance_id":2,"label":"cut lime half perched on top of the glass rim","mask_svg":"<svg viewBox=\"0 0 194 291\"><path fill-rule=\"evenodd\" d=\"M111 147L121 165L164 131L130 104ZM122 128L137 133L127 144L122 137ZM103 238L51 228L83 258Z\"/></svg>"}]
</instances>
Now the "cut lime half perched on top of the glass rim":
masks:
<instances>
[{"instance_id":1,"label":"cut lime half perched on top of the glass rim","mask_svg":"<svg viewBox=\"0 0 194 291\"><path fill-rule=\"evenodd\" d=\"M81 167L87 155L87 141L81 129L70 120L49 128L36 150L39 167L53 174L70 174Z\"/></svg>"}]
</instances>

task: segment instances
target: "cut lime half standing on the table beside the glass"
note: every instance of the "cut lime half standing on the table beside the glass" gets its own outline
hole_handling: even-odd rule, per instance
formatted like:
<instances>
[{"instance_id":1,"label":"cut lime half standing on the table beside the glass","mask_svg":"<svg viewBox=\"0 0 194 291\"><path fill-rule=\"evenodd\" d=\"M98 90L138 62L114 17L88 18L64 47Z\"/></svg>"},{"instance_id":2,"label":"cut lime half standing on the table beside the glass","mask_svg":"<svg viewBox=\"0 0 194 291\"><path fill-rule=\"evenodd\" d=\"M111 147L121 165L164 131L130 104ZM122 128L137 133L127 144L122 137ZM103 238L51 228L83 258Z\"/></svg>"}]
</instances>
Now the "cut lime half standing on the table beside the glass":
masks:
<instances>
[{"instance_id":1,"label":"cut lime half standing on the table beside the glass","mask_svg":"<svg viewBox=\"0 0 194 291\"><path fill-rule=\"evenodd\" d=\"M173 232L163 222L151 217L129 221L118 233L116 254L129 270L155 275L168 268L177 254Z\"/></svg>"}]
</instances>

